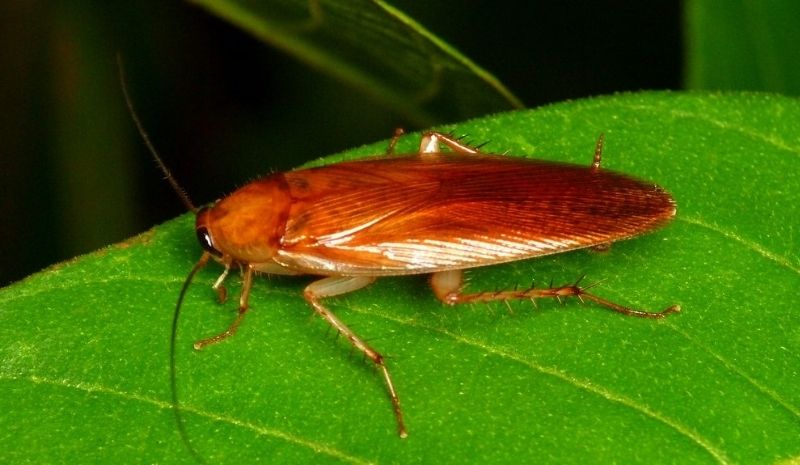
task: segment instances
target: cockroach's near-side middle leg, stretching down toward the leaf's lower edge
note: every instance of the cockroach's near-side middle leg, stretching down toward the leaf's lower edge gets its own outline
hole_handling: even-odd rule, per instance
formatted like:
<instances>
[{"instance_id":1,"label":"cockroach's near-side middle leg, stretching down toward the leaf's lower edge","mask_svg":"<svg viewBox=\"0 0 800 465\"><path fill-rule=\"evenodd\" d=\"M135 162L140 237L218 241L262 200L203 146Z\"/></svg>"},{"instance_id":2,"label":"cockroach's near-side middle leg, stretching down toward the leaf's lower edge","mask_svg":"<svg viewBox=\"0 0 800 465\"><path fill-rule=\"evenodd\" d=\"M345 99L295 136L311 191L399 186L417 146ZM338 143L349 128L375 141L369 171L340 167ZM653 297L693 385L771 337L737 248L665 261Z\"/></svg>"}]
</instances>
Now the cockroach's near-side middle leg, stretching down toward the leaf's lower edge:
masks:
<instances>
[{"instance_id":1,"label":"cockroach's near-side middle leg, stretching down toward the leaf's lower edge","mask_svg":"<svg viewBox=\"0 0 800 465\"><path fill-rule=\"evenodd\" d=\"M400 409L400 398L397 396L397 391L394 388L394 383L392 382L392 377L389 375L389 369L386 367L386 362L384 361L383 355L370 347L369 344L364 342L363 339L358 337L356 333L354 333L342 322L342 320L334 315L333 312L325 308L325 306L320 302L320 299L325 297L346 294L348 292L361 289L374 280L375 278L371 276L331 276L322 278L319 281L314 281L306 286L303 295L305 296L306 301L311 304L312 307L314 307L314 310L317 312L317 314L319 314L319 316L324 318L328 324L330 324L334 329L336 329L336 331L339 332L339 334L342 334L344 337L346 337L353 347L360 350L365 357L372 360L372 363L374 363L380 369L381 373L383 374L383 379L386 381L386 389L392 401L394 415L397 418L398 433L401 438L405 438L408 436L408 431L406 430L406 425L403 421L403 412Z\"/></svg>"}]
</instances>

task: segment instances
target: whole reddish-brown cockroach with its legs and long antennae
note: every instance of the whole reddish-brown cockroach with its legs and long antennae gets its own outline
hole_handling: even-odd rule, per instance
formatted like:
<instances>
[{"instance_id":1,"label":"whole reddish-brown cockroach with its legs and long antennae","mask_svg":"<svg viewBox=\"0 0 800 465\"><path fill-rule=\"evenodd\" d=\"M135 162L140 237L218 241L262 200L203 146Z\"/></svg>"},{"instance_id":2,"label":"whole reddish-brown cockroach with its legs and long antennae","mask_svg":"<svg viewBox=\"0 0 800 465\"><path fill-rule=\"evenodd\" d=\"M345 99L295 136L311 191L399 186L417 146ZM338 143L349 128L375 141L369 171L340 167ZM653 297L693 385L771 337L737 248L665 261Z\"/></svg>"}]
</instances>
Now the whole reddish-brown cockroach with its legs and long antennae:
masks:
<instances>
[{"instance_id":1,"label":"whole reddish-brown cockroach with its legs and long antennae","mask_svg":"<svg viewBox=\"0 0 800 465\"><path fill-rule=\"evenodd\" d=\"M305 300L375 364L401 437L407 436L403 411L383 355L322 299L356 291L382 276L431 274L434 295L447 305L577 297L636 317L662 318L680 310L677 305L660 312L634 310L589 293L590 286L579 282L462 290L465 269L602 248L651 231L675 215L674 200L659 186L600 167L602 135L592 163L578 166L491 155L434 131L422 135L417 153L395 155L398 131L384 156L271 174L197 209L150 143L124 81L123 91L148 149L187 208L196 213L195 231L204 249L183 284L172 328L173 408L184 439L175 389L175 334L186 290L211 258L224 267L212 286L220 300L229 271L242 270L239 312L225 331L197 341L195 349L236 333L248 310L256 273L318 276L306 286Z\"/></svg>"}]
</instances>

